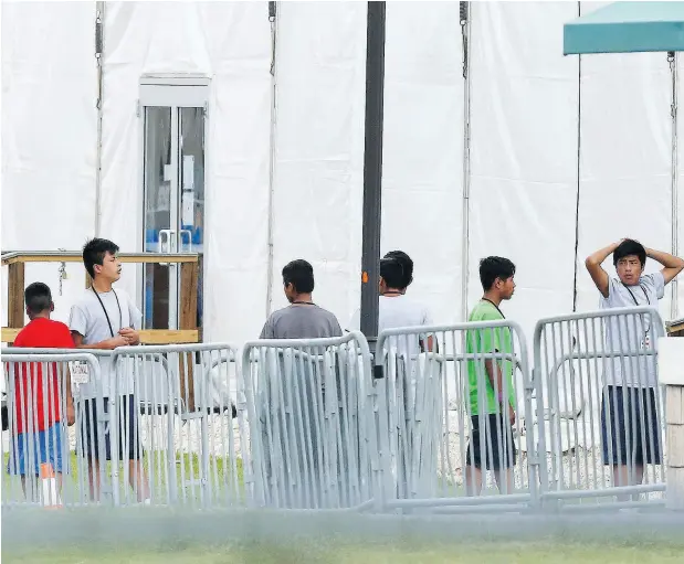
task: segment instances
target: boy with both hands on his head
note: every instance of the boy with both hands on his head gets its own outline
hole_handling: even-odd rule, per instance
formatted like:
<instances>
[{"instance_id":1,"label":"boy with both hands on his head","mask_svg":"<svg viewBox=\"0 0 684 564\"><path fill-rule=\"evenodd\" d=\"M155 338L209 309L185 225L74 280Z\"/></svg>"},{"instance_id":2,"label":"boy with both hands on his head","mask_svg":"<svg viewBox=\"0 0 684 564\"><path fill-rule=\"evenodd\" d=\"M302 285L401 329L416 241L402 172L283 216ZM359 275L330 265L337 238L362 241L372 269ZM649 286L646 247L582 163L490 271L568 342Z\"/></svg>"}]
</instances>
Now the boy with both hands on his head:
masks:
<instances>
[{"instance_id":1,"label":"boy with both hands on his head","mask_svg":"<svg viewBox=\"0 0 684 564\"><path fill-rule=\"evenodd\" d=\"M618 278L609 277L601 267L611 253ZM644 275L646 257L653 258L663 268L655 274ZM585 265L601 292L601 309L657 308L657 300L665 294L665 285L682 272L684 260L624 238L597 251L587 258ZM606 324L607 349L624 352L652 349L654 343L651 328L646 327L648 321L648 316L638 316L638 319L629 321L612 318ZM639 334L633 334L634 330ZM634 361L638 363L638 373L633 371ZM661 461L655 362L653 357L623 357L606 359L603 365L603 464L612 467L613 486L635 486L643 480L644 464Z\"/></svg>"}]
</instances>

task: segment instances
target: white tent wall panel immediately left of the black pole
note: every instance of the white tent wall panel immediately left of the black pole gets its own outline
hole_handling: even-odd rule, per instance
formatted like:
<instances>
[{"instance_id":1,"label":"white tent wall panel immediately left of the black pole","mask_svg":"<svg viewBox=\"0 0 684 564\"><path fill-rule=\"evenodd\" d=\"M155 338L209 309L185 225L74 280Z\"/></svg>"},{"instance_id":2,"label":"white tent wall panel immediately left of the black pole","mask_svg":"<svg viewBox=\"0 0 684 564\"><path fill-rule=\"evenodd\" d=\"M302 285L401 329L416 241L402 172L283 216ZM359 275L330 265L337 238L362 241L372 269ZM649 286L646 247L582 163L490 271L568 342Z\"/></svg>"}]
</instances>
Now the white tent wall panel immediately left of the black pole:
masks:
<instances>
[{"instance_id":1,"label":"white tent wall panel immediately left of the black pole","mask_svg":"<svg viewBox=\"0 0 684 564\"><path fill-rule=\"evenodd\" d=\"M343 326L360 292L366 4L278 3L273 309L281 270L312 263Z\"/></svg>"}]
</instances>

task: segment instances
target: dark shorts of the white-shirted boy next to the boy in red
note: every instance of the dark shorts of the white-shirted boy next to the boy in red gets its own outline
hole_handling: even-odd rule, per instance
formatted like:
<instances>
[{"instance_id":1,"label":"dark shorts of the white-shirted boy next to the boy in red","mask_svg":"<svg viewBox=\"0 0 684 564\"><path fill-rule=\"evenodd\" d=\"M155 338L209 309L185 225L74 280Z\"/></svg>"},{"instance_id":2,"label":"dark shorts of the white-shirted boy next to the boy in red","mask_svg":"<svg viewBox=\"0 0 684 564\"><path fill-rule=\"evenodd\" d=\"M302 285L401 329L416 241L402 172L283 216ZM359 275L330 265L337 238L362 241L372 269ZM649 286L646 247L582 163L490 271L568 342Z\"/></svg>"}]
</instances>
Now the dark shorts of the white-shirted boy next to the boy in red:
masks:
<instances>
[{"instance_id":1,"label":"dark shorts of the white-shirted boy next to the boy in red","mask_svg":"<svg viewBox=\"0 0 684 564\"><path fill-rule=\"evenodd\" d=\"M81 418L81 440L85 449L86 459L94 458L99 460L99 437L97 422L97 409L103 405L96 400L85 400L83 402L84 414ZM143 447L140 440L140 430L138 425L138 405L133 395L123 395L118 402L119 417L112 418L102 425L105 432L104 455L106 460L112 460L112 440L111 426L118 421L118 459L119 460L138 460L143 458ZM109 413L109 400L104 398L104 412ZM124 449L124 445L127 446ZM126 453L126 455L124 455Z\"/></svg>"}]
</instances>

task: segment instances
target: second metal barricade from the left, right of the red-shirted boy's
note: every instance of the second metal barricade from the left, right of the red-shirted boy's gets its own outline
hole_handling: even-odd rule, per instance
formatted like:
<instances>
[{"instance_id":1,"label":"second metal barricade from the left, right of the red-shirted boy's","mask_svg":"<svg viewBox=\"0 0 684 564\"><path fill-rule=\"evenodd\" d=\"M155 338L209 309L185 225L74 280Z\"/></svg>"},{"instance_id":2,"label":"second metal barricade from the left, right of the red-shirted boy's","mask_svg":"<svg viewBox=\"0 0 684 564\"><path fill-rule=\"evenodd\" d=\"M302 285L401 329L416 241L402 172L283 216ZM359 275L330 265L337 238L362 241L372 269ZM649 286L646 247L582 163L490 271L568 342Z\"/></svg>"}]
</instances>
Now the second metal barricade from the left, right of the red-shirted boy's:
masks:
<instances>
[{"instance_id":1,"label":"second metal barricade from the left, right of the red-shirted boy's","mask_svg":"<svg viewBox=\"0 0 684 564\"><path fill-rule=\"evenodd\" d=\"M250 448L240 433L244 401L235 406L238 359L236 348L223 343L114 351L112 441L122 445L113 454L124 461L117 503L209 508L246 502L243 465Z\"/></svg>"}]
</instances>

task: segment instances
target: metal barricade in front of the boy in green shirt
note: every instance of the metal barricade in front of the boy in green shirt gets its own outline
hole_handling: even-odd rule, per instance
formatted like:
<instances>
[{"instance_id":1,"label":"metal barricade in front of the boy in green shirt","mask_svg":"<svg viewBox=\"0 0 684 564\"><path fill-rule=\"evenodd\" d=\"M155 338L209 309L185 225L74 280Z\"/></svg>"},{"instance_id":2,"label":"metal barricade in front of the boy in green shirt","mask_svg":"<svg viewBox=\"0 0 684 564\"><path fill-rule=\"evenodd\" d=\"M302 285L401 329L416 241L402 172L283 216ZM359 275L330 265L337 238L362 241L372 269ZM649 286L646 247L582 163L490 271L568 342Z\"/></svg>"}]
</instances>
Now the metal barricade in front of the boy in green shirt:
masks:
<instances>
[{"instance_id":1,"label":"metal barricade in front of the boy in green shirt","mask_svg":"<svg viewBox=\"0 0 684 564\"><path fill-rule=\"evenodd\" d=\"M536 440L525 433L532 372L517 323L386 330L376 363L385 366L376 385L379 433L389 437L386 509L522 511L537 502Z\"/></svg>"}]
</instances>

